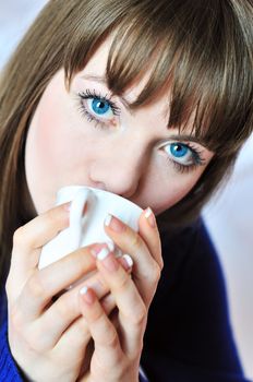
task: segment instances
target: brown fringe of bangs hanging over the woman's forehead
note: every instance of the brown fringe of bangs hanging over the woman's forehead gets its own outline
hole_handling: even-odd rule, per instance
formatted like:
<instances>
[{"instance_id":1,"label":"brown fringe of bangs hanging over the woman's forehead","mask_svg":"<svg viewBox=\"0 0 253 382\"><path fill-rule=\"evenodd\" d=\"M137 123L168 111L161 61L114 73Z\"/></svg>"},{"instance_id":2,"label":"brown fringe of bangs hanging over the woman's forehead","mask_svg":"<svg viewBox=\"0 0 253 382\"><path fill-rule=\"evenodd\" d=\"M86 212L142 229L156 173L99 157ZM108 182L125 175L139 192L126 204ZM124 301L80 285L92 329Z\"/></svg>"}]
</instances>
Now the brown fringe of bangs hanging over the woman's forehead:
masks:
<instances>
[{"instance_id":1,"label":"brown fringe of bangs hanging over the woman's forehead","mask_svg":"<svg viewBox=\"0 0 253 382\"><path fill-rule=\"evenodd\" d=\"M128 2L105 8L106 16L103 9L92 10L91 29L96 35L87 35L87 27L80 23L67 53L69 81L113 33L107 63L112 94L122 95L148 72L131 108L149 104L168 91L168 128L183 131L193 118L192 134L208 148L219 156L236 152L245 140L246 114L242 116L241 110L252 99L252 71L250 50L241 44L244 36L238 34L232 9L220 1L208 7L203 1L192 7L189 1L160 1L157 5L136 1L132 7ZM109 3L113 5L113 1Z\"/></svg>"}]
</instances>

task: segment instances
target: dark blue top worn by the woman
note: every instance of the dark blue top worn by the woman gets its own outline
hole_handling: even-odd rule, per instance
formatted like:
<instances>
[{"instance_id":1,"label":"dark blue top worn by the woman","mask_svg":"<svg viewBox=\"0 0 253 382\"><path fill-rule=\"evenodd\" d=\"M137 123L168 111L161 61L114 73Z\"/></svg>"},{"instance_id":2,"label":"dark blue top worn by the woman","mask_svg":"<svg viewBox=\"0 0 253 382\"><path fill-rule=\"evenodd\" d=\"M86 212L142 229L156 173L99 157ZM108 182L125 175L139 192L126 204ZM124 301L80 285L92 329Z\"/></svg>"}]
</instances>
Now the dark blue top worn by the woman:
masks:
<instances>
[{"instance_id":1,"label":"dark blue top worn by the woman","mask_svg":"<svg viewBox=\"0 0 253 382\"><path fill-rule=\"evenodd\" d=\"M161 242L165 266L149 309L143 371L150 382L249 382L232 336L220 264L202 220L162 234ZM0 382L20 382L3 298L1 312Z\"/></svg>"}]
</instances>

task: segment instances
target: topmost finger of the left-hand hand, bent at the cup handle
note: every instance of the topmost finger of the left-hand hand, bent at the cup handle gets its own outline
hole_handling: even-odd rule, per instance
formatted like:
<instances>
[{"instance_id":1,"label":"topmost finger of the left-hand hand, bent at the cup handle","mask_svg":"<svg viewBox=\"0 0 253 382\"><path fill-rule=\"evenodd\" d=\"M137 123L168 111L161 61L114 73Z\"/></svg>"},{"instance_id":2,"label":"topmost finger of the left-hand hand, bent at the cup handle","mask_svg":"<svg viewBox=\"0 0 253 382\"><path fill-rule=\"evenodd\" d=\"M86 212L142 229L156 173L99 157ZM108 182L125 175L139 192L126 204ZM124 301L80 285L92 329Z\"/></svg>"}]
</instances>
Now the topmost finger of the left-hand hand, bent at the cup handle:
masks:
<instances>
[{"instance_id":1,"label":"topmost finger of the left-hand hand, bent at the cup handle","mask_svg":"<svg viewBox=\"0 0 253 382\"><path fill-rule=\"evenodd\" d=\"M69 203L35 217L16 229L13 236L11 270L8 288L20 291L37 267L40 249L69 225ZM13 285L13 288L12 287Z\"/></svg>"}]
</instances>

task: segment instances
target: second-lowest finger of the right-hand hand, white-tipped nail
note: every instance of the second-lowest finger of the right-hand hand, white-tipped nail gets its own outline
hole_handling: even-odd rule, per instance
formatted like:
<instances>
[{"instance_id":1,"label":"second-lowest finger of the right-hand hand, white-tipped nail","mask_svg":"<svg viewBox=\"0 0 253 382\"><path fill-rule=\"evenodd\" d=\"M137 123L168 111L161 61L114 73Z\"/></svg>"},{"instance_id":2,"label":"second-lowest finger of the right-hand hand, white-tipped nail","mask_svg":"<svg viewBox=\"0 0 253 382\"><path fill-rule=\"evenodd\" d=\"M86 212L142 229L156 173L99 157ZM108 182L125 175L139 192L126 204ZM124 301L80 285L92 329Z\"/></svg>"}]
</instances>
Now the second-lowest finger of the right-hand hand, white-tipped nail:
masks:
<instances>
[{"instance_id":1,"label":"second-lowest finger of the right-hand hand, white-tipped nail","mask_svg":"<svg viewBox=\"0 0 253 382\"><path fill-rule=\"evenodd\" d=\"M123 350L135 355L136 349L140 349L146 324L145 303L130 275L109 250L103 249L98 254L97 267L105 277L119 309Z\"/></svg>"}]
</instances>

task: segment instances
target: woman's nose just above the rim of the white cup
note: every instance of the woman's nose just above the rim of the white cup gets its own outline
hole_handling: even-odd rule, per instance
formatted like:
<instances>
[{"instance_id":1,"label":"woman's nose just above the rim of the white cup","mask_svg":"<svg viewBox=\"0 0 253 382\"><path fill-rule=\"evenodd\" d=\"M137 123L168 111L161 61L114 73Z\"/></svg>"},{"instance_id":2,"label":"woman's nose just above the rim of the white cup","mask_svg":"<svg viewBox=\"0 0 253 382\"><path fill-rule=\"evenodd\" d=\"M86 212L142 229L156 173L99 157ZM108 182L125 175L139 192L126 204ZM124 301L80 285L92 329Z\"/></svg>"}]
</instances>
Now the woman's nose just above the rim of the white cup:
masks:
<instances>
[{"instance_id":1,"label":"woman's nose just above the rim of the white cup","mask_svg":"<svg viewBox=\"0 0 253 382\"><path fill-rule=\"evenodd\" d=\"M147 162L148 154L140 144L107 146L91 164L89 178L97 188L130 199L138 190Z\"/></svg>"}]
</instances>

